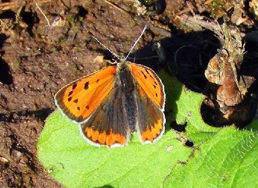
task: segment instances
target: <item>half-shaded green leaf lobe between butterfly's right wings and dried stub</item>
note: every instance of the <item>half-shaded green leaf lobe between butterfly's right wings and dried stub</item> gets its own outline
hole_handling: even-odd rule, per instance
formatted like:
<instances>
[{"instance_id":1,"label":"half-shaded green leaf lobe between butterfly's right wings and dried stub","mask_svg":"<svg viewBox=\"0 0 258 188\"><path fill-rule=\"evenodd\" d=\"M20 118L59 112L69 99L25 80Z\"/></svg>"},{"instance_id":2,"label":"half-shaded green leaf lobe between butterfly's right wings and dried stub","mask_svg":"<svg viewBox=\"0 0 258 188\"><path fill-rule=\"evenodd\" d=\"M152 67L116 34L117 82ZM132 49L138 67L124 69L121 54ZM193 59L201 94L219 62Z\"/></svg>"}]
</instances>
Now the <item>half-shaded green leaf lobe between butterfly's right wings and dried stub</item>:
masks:
<instances>
[{"instance_id":1,"label":"half-shaded green leaf lobe between butterfly's right wings and dried stub","mask_svg":"<svg viewBox=\"0 0 258 188\"><path fill-rule=\"evenodd\" d=\"M214 132L219 128L207 125L200 113L204 95L187 90L182 83L170 77L165 72L160 72L159 77L165 85L167 96L166 112L173 111L178 124L187 122L187 132Z\"/></svg>"}]
</instances>

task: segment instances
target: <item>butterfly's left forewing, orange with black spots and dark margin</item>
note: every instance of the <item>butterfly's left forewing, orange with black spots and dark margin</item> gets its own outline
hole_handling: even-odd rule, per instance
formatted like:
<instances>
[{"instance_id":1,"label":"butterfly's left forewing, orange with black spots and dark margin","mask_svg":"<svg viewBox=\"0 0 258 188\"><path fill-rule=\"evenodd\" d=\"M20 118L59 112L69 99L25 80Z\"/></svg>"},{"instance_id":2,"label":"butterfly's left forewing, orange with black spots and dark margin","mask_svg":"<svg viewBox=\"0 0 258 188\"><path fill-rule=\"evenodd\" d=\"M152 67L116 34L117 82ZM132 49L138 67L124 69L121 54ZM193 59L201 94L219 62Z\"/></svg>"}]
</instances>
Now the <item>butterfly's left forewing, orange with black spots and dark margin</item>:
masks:
<instances>
[{"instance_id":1,"label":"butterfly's left forewing, orange with black spots and dark margin","mask_svg":"<svg viewBox=\"0 0 258 188\"><path fill-rule=\"evenodd\" d=\"M109 95L115 74L116 66L109 66L73 81L56 93L56 106L75 122L86 121Z\"/></svg>"}]
</instances>

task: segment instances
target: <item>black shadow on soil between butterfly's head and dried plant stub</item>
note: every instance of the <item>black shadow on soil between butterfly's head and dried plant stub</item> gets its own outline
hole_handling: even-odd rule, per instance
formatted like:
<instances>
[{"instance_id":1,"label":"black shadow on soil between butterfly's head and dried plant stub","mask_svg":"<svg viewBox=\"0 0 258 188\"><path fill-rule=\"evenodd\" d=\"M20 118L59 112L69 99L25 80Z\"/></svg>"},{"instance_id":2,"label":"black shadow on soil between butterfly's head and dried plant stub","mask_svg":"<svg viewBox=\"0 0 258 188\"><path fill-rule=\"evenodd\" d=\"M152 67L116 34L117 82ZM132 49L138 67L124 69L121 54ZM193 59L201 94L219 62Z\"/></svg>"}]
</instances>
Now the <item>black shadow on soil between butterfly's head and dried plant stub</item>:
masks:
<instances>
[{"instance_id":1,"label":"black shadow on soil between butterfly's head and dried plant stub","mask_svg":"<svg viewBox=\"0 0 258 188\"><path fill-rule=\"evenodd\" d=\"M188 89L206 95L208 80L204 71L219 48L219 40L213 32L192 32L180 37L149 42L132 53L128 59L155 72L165 69Z\"/></svg>"}]
</instances>

